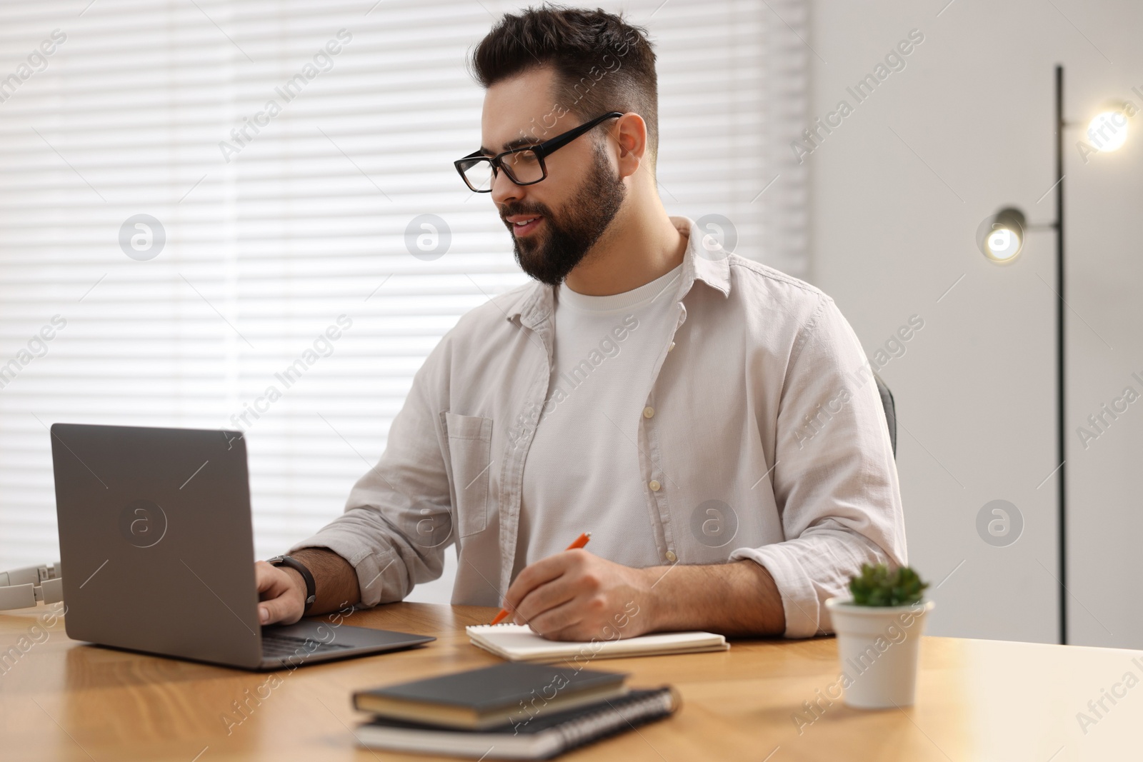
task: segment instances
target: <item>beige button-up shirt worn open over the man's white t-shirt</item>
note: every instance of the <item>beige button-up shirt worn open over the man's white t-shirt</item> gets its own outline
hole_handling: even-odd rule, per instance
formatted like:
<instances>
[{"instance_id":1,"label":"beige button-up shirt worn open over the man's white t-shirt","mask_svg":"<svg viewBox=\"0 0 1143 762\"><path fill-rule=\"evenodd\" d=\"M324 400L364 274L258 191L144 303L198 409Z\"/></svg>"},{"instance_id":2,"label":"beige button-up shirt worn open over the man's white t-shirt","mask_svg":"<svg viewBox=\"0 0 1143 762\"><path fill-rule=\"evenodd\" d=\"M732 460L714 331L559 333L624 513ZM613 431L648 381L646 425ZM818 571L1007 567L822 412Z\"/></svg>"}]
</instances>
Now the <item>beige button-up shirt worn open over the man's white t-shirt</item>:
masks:
<instances>
[{"instance_id":1,"label":"beige button-up shirt worn open over the man's white t-shirt","mask_svg":"<svg viewBox=\"0 0 1143 762\"><path fill-rule=\"evenodd\" d=\"M658 558L760 563L782 594L786 636L830 632L824 602L846 593L862 562L906 563L869 363L829 296L726 252L686 217L671 220L689 241L632 474L647 486ZM552 288L538 282L465 314L417 371L345 513L291 551L342 555L373 605L438 578L455 544L453 602L498 605L551 378L552 318Z\"/></svg>"}]
</instances>

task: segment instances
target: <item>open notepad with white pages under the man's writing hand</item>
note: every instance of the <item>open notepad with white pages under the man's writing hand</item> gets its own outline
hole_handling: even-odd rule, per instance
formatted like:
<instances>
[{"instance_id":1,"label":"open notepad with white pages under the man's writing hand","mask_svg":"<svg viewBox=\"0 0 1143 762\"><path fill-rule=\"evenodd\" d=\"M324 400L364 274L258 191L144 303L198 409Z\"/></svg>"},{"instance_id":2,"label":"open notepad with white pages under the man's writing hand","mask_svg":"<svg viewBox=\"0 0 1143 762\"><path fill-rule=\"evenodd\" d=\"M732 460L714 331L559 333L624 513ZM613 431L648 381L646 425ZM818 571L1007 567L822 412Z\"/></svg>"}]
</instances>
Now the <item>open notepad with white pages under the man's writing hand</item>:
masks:
<instances>
[{"instance_id":1,"label":"open notepad with white pages under the man's writing hand","mask_svg":"<svg viewBox=\"0 0 1143 762\"><path fill-rule=\"evenodd\" d=\"M545 661L583 656L608 659L628 656L664 656L725 651L730 648L722 635L704 632L655 633L622 640L553 641L541 637L527 625L474 625L465 627L469 641L509 661Z\"/></svg>"}]
</instances>

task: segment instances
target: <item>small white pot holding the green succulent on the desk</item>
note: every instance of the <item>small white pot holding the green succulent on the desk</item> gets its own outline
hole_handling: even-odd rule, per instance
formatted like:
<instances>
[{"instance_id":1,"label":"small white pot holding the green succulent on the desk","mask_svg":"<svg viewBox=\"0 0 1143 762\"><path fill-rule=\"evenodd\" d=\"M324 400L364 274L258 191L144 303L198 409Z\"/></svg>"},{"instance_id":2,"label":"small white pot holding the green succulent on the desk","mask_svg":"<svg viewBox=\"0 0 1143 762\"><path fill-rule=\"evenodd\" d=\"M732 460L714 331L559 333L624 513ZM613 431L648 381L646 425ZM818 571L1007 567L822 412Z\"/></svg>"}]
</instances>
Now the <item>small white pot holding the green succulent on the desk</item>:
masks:
<instances>
[{"instance_id":1,"label":"small white pot holding the green succulent on the desk","mask_svg":"<svg viewBox=\"0 0 1143 762\"><path fill-rule=\"evenodd\" d=\"M838 636L847 705L858 709L912 705L921 634L935 605L933 601L855 605L849 597L831 597L825 602Z\"/></svg>"}]
</instances>

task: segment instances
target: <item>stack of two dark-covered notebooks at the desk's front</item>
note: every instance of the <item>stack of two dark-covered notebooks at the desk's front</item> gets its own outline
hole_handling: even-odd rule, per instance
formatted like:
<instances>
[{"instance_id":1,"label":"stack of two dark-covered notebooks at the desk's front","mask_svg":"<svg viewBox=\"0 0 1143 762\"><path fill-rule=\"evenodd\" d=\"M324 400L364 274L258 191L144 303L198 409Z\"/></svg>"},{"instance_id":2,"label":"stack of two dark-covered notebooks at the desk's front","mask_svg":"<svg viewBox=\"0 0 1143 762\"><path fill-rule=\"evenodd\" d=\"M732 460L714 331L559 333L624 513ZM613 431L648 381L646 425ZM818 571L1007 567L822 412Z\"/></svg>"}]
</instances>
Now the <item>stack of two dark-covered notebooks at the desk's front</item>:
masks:
<instances>
[{"instance_id":1,"label":"stack of two dark-covered notebooks at the desk's front","mask_svg":"<svg viewBox=\"0 0 1143 762\"><path fill-rule=\"evenodd\" d=\"M374 715L362 746L486 760L544 760L665 717L670 687L632 689L622 673L504 663L353 695Z\"/></svg>"}]
</instances>

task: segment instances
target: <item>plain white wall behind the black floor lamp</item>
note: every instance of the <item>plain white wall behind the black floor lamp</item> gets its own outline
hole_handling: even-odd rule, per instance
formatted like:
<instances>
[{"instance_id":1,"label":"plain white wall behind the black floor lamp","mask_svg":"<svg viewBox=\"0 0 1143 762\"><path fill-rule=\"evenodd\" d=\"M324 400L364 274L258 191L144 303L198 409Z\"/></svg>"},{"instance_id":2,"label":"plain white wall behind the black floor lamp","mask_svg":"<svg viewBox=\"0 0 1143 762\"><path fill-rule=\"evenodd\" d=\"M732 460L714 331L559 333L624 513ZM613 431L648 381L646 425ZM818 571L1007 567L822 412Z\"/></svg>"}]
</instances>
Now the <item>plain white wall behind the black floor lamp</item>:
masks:
<instances>
[{"instance_id":1,"label":"plain white wall behind the black floor lamp","mask_svg":"<svg viewBox=\"0 0 1143 762\"><path fill-rule=\"evenodd\" d=\"M1030 232L1021 259L997 266L974 236L1001 206L1023 208L1032 223L1054 216L1054 195L1044 194L1055 182L1057 62L1066 118L1086 125L1117 96L1143 106L1132 94L1143 90L1143 6L946 1L814 6L812 115L842 98L854 105L846 87L910 30L925 39L805 158L810 279L834 297L871 355L910 315L925 320L880 374L897 402L910 561L934 583L952 572L934 591L930 632L1055 642L1058 483L1044 481L1058 465L1055 238ZM1143 119L1130 129L1143 137ZM1086 450L1076 434L1125 386L1143 393L1130 378L1143 378L1143 141L1085 165L1076 149L1081 131L1066 135L1064 158L1069 640L1143 648L1135 595L1143 401ZM976 529L993 499L1015 504L1024 520L1020 539L1005 547Z\"/></svg>"}]
</instances>

